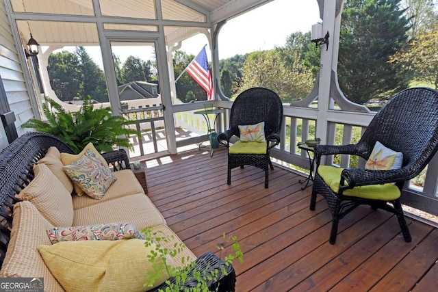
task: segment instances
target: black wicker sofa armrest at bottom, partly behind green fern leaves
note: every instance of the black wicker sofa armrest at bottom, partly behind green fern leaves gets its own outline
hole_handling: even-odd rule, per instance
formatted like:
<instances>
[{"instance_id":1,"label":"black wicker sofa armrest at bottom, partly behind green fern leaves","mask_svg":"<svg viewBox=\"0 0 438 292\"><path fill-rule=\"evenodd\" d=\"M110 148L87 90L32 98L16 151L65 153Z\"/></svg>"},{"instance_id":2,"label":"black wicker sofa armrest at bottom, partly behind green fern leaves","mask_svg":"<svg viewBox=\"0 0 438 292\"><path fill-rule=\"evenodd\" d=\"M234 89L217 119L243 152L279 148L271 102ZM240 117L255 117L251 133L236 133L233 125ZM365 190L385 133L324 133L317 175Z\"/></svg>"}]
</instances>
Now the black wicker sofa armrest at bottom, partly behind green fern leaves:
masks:
<instances>
[{"instance_id":1,"label":"black wicker sofa armrest at bottom, partly behind green fern leaves","mask_svg":"<svg viewBox=\"0 0 438 292\"><path fill-rule=\"evenodd\" d=\"M225 273L222 271L222 269L224 269ZM208 280L207 284L209 291L216 291L216 288L218 288L217 291L219 292L235 291L235 271L233 266L225 265L224 261L211 252L206 252L205 254L196 258L194 269L189 271L187 281L181 285L179 291L185 291L185 289L188 289L189 287L196 287L198 281L195 277L193 277L194 271L201 272L201 275L205 271L205 276L208 277L213 276L215 274L215 270L218 271L217 280ZM169 281L171 283L175 283L175 278L170 278ZM159 289L166 291L166 287L168 287L168 284L164 282L151 291L158 291Z\"/></svg>"}]
</instances>

